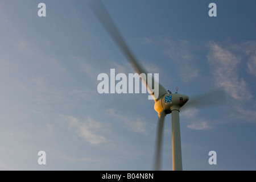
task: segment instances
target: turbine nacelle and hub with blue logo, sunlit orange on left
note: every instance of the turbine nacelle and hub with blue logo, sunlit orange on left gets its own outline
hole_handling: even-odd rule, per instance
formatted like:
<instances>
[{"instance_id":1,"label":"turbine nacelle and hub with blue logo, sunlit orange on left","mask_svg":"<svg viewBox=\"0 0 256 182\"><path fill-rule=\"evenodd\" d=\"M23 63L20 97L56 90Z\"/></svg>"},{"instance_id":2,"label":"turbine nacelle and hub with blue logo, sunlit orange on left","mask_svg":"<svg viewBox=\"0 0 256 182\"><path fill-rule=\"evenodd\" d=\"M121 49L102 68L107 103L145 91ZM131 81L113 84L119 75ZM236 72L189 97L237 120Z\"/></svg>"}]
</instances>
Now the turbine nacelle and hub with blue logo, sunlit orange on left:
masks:
<instances>
[{"instance_id":1,"label":"turbine nacelle and hub with blue logo, sunlit orange on left","mask_svg":"<svg viewBox=\"0 0 256 182\"><path fill-rule=\"evenodd\" d=\"M188 100L188 96L183 94L166 94L155 102L154 109L158 113L164 110L166 114L170 114L172 110L179 110Z\"/></svg>"}]
</instances>

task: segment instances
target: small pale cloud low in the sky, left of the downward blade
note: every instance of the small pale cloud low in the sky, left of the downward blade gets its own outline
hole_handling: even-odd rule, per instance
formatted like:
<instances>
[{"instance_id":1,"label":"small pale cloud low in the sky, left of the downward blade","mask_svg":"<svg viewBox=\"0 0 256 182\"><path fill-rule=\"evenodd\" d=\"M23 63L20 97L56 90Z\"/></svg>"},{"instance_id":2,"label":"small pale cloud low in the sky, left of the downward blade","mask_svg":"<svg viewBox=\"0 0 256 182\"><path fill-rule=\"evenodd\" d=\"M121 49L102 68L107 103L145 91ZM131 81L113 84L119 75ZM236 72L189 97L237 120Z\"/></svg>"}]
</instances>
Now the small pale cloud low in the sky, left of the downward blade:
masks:
<instances>
[{"instance_id":1,"label":"small pale cloud low in the sky, left of the downward blade","mask_svg":"<svg viewBox=\"0 0 256 182\"><path fill-rule=\"evenodd\" d=\"M98 134L101 133L103 127L100 122L94 121L89 117L82 122L72 116L64 116L64 118L69 122L69 126L79 134L79 137L84 138L87 142L91 144L106 142L106 138Z\"/></svg>"}]
</instances>

